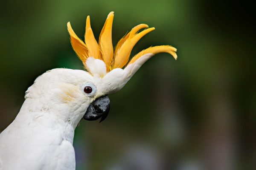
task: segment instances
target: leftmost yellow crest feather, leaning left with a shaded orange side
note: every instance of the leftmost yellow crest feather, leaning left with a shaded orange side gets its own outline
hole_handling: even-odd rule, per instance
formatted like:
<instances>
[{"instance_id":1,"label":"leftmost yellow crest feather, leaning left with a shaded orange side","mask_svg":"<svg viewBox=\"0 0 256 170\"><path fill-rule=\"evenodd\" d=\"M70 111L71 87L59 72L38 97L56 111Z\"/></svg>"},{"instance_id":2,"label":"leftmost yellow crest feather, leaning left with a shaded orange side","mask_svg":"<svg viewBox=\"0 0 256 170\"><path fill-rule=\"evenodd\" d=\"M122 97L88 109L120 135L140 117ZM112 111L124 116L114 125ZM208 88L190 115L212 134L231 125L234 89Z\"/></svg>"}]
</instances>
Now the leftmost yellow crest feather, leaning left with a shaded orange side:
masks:
<instances>
[{"instance_id":1,"label":"leftmost yellow crest feather, leaning left with a shaded orange side","mask_svg":"<svg viewBox=\"0 0 256 170\"><path fill-rule=\"evenodd\" d=\"M85 43L77 37L76 33L73 31L70 22L67 23L67 30L70 34L71 45L76 52L77 56L83 63L85 63L88 57L88 48Z\"/></svg>"}]
</instances>

